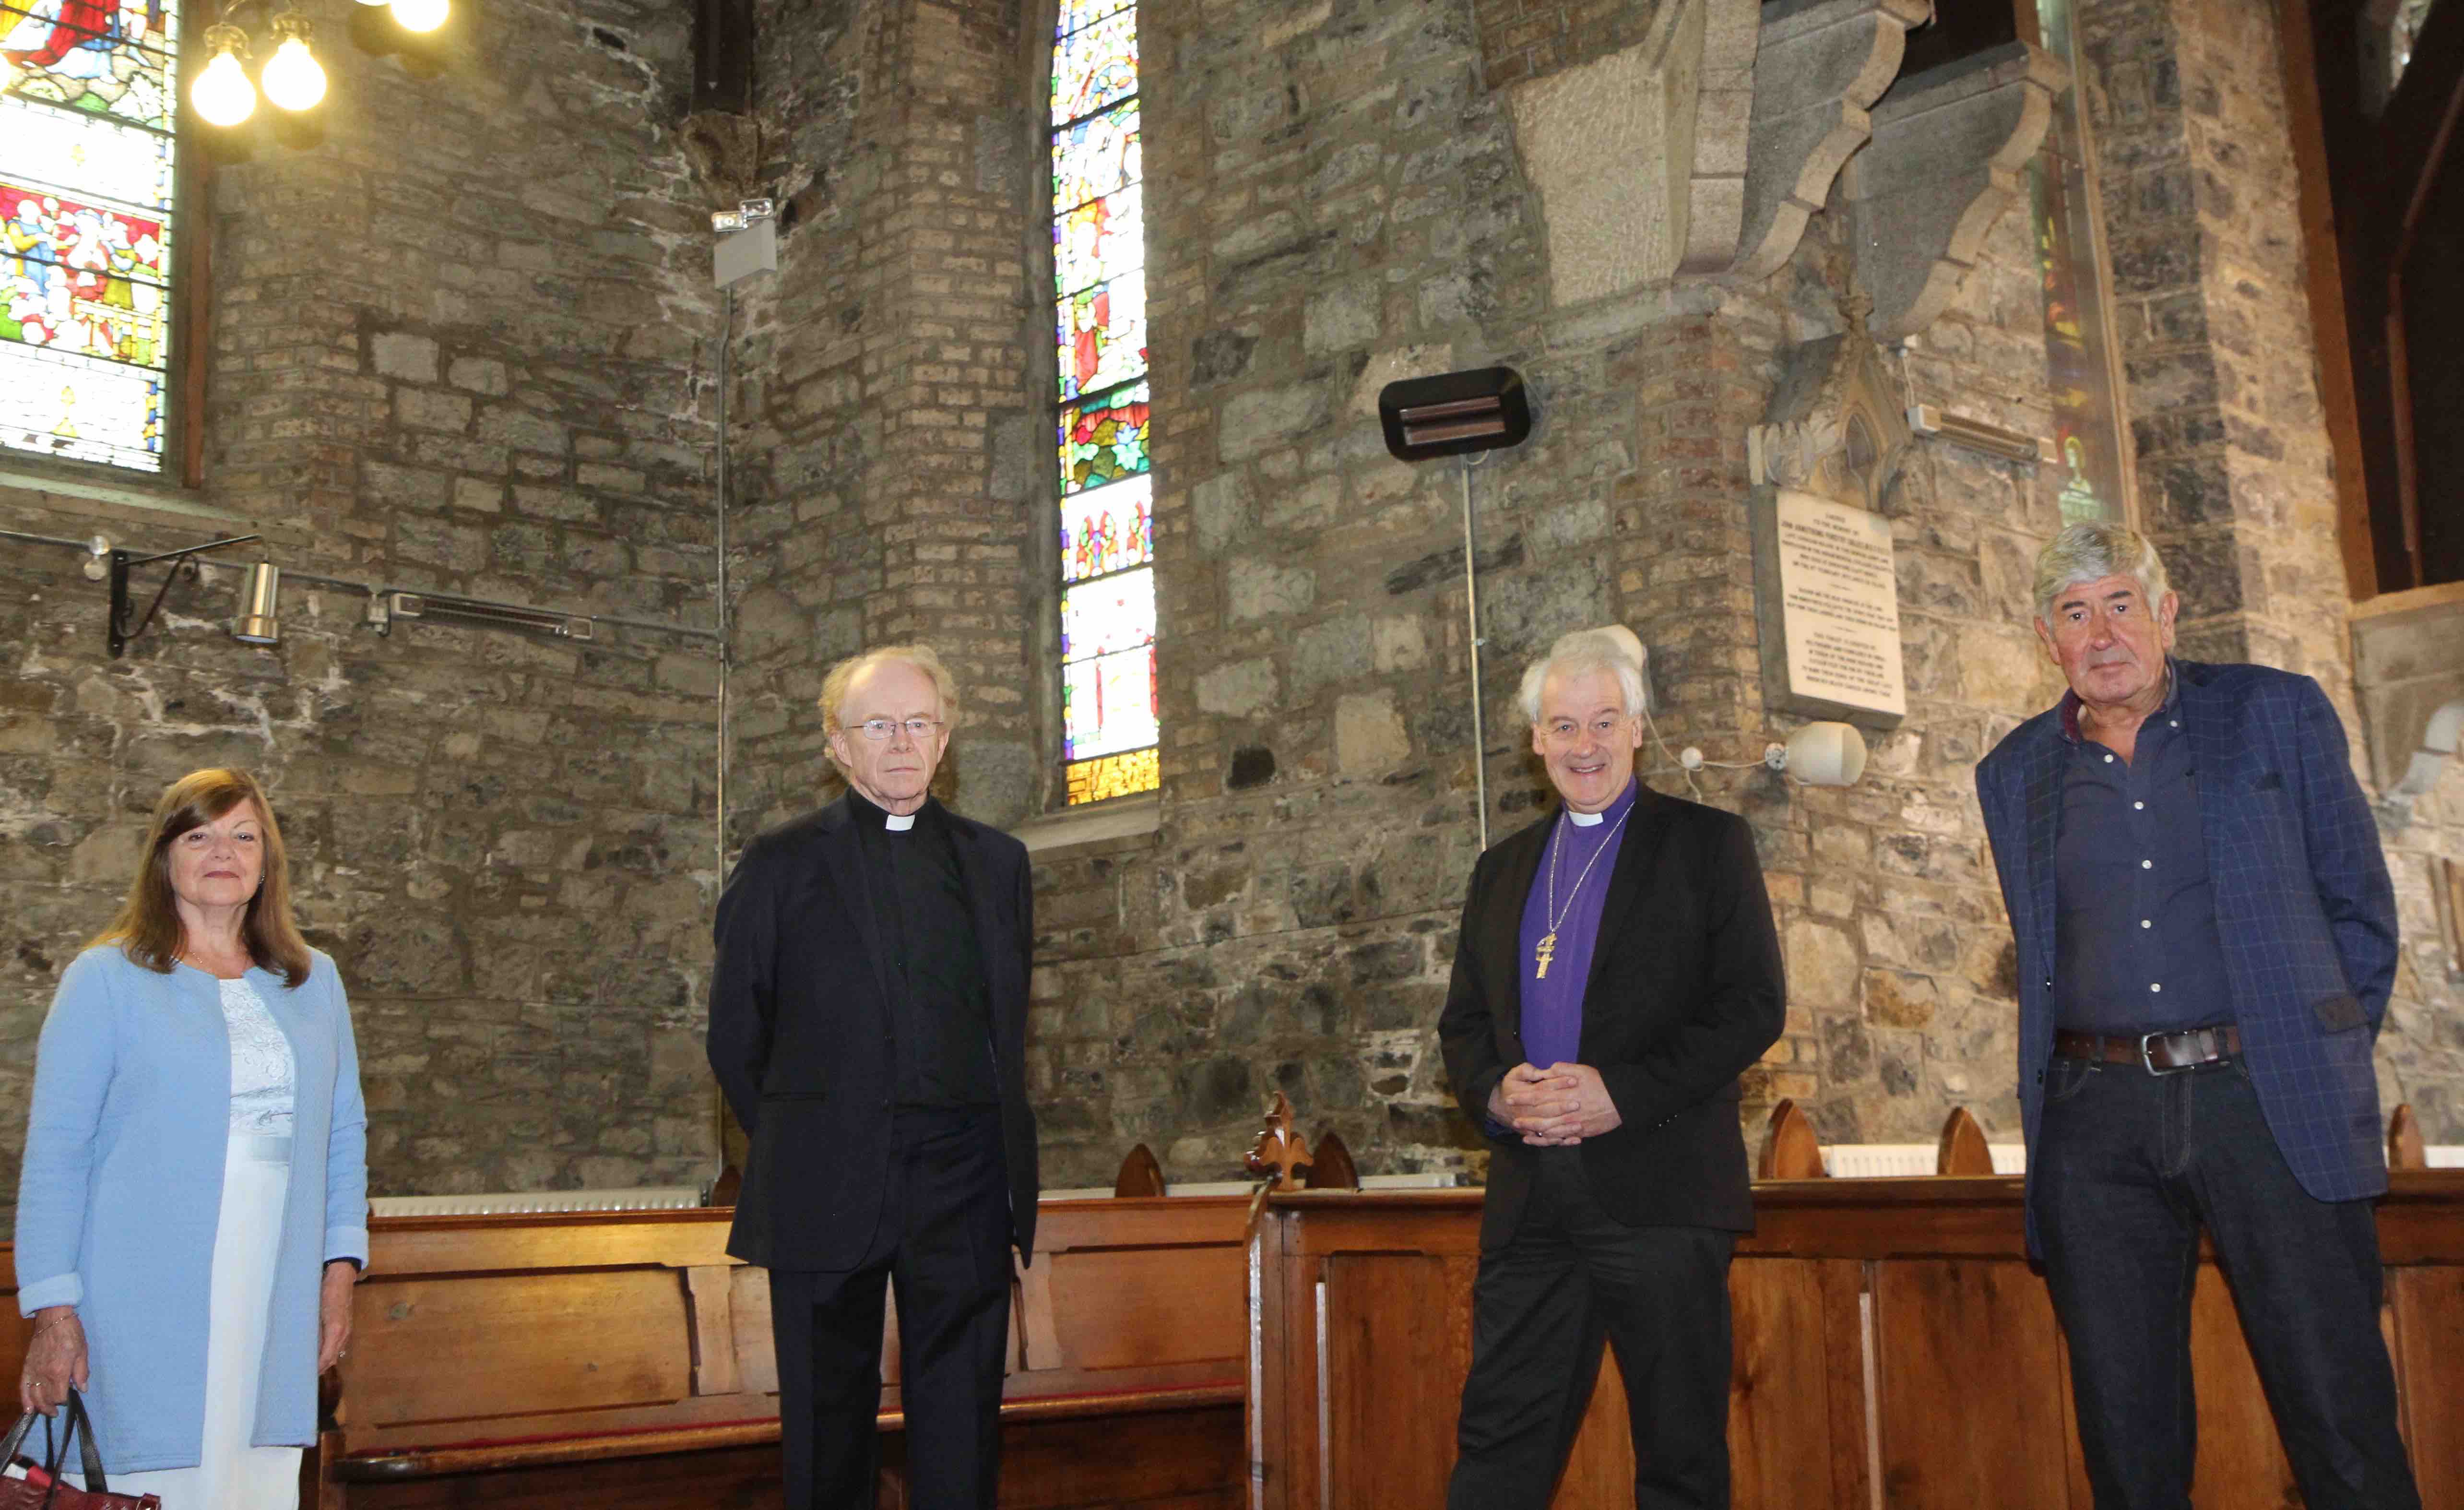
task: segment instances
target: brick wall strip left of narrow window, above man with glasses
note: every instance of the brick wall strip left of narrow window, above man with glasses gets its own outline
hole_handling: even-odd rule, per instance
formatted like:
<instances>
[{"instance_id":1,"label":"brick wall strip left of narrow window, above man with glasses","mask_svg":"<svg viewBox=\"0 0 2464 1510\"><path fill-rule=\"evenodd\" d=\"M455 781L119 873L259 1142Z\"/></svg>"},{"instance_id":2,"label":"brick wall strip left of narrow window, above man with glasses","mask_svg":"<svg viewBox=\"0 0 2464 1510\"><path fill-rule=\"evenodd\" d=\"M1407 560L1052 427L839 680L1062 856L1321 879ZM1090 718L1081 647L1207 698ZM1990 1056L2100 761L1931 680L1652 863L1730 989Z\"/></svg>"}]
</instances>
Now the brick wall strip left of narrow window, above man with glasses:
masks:
<instances>
[{"instance_id":1,"label":"brick wall strip left of narrow window, above man with glasses","mask_svg":"<svg viewBox=\"0 0 2464 1510\"><path fill-rule=\"evenodd\" d=\"M742 286L747 665L742 842L828 781L813 700L862 645L924 640L966 697L958 808L1042 798L1050 608L1047 273L1023 227L1040 153L1013 7L867 2L764 15L769 165L796 222ZM1042 81L1040 64L1035 74ZM1037 281L1042 278L1042 281ZM1032 288L1030 288L1032 283Z\"/></svg>"}]
</instances>

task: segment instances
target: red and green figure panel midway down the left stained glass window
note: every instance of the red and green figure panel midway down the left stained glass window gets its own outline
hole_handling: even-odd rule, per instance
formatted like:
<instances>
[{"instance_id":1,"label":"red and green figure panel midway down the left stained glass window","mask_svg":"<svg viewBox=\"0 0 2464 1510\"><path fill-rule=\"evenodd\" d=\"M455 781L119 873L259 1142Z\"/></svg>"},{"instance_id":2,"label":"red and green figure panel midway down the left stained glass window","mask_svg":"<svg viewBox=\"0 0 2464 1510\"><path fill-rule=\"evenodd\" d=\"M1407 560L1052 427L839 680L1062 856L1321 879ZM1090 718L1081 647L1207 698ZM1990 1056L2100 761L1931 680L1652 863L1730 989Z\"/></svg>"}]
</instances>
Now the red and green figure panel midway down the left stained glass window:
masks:
<instances>
[{"instance_id":1,"label":"red and green figure panel midway down the left stained glass window","mask_svg":"<svg viewBox=\"0 0 2464 1510\"><path fill-rule=\"evenodd\" d=\"M0 182L0 340L163 365L163 222Z\"/></svg>"}]
</instances>

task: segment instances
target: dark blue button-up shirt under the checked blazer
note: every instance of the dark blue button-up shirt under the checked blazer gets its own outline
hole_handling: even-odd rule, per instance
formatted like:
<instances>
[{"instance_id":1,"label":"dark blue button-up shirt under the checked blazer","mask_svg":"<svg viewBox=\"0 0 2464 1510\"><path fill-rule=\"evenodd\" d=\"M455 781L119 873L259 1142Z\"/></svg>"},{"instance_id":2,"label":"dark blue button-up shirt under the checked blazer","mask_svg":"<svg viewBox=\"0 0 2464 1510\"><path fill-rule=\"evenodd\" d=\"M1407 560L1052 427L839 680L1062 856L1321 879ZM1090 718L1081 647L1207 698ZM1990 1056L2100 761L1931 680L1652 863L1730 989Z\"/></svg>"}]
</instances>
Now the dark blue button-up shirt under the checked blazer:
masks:
<instances>
[{"instance_id":1,"label":"dark blue button-up shirt under the checked blazer","mask_svg":"<svg viewBox=\"0 0 2464 1510\"><path fill-rule=\"evenodd\" d=\"M2062 697L2062 828L2053 850L2053 1020L2082 1032L2173 1032L2232 1022L2225 946L2198 820L2198 769L2181 677L2124 761L2080 734Z\"/></svg>"}]
</instances>

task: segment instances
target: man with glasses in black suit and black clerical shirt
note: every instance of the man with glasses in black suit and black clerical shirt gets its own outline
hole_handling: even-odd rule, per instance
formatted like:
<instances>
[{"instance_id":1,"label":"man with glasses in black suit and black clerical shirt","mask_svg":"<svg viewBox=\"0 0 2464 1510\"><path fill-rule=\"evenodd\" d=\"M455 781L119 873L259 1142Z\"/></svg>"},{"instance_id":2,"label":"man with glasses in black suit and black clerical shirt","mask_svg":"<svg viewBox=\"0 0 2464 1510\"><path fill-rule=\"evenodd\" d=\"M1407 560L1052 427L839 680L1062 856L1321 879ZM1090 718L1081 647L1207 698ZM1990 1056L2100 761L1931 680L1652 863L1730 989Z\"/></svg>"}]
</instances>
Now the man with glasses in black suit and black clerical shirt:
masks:
<instances>
[{"instance_id":1,"label":"man with glasses in black suit and black clerical shirt","mask_svg":"<svg viewBox=\"0 0 2464 1510\"><path fill-rule=\"evenodd\" d=\"M791 1510L875 1503L890 1283L907 1503L991 1510L1010 1246L1035 1246L1027 852L929 796L958 719L929 648L840 663L821 717L848 793L719 897L710 1067L752 1136L727 1251L771 1271Z\"/></svg>"}]
</instances>

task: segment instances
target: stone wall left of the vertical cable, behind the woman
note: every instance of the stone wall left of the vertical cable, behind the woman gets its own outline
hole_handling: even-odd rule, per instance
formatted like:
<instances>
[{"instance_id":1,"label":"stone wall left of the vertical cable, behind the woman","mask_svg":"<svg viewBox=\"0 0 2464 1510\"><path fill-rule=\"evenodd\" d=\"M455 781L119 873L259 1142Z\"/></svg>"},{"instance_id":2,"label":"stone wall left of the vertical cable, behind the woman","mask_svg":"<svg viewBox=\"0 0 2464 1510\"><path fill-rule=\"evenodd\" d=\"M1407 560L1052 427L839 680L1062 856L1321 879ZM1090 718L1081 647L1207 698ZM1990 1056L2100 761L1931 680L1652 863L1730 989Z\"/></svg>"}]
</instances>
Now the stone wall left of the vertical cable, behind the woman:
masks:
<instances>
[{"instance_id":1,"label":"stone wall left of the vertical cable, behind the woman","mask_svg":"<svg viewBox=\"0 0 2464 1510\"><path fill-rule=\"evenodd\" d=\"M79 485L123 480L12 466L0 527L133 552L256 530L293 571L707 626L717 310L673 133L685 17L466 5L416 74L340 30L320 54L306 138L261 108L202 143L205 488L101 500ZM259 650L224 636L234 589L175 584L108 660L79 557L0 544L10 1099L155 793L241 764L352 990L377 1192L707 1180L707 643L379 636L360 594L291 584ZM20 1138L0 1126L7 1180Z\"/></svg>"}]
</instances>

